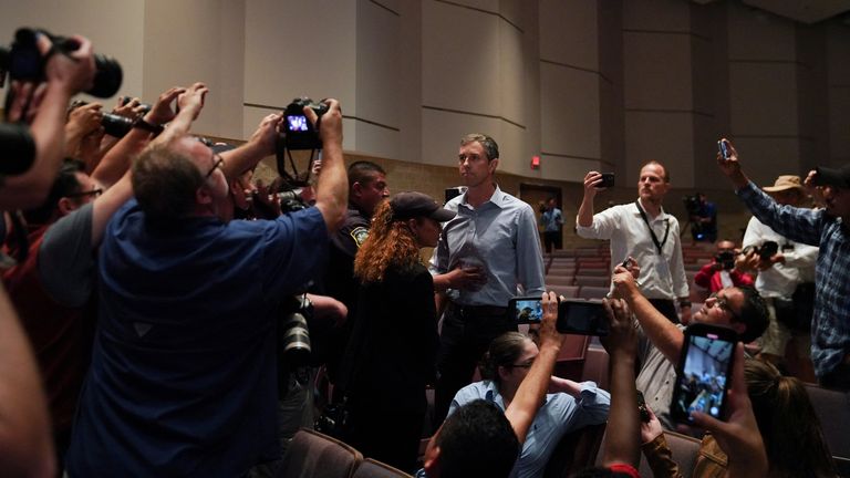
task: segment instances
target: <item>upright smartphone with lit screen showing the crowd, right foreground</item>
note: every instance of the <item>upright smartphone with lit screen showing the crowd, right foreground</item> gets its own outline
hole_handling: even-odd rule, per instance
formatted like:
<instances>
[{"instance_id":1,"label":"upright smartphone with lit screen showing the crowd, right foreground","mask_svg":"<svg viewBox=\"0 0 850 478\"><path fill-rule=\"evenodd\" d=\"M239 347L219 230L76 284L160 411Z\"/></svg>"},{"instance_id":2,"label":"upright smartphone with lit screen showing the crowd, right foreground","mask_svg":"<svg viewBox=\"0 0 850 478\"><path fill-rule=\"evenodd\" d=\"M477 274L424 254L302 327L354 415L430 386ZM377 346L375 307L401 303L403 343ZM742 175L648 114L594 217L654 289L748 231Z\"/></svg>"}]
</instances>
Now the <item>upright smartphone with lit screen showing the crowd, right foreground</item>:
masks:
<instances>
[{"instance_id":1,"label":"upright smartphone with lit screen showing the crowd, right foreground","mask_svg":"<svg viewBox=\"0 0 850 478\"><path fill-rule=\"evenodd\" d=\"M671 415L691 422L692 412L724 418L736 336L730 329L706 324L685 332L684 361L673 391ZM692 331L691 329L696 329Z\"/></svg>"}]
</instances>

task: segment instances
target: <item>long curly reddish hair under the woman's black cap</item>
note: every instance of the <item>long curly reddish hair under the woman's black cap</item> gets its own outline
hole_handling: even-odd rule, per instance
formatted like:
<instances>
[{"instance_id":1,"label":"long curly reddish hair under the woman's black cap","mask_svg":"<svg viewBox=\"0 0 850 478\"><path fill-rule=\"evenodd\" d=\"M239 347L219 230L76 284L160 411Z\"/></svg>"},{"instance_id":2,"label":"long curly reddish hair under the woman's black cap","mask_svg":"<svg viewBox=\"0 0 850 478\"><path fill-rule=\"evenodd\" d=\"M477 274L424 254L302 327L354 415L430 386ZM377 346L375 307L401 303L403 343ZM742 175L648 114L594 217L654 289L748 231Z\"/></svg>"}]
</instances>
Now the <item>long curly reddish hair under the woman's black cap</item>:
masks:
<instances>
[{"instance_id":1,"label":"long curly reddish hair under the woman's black cap","mask_svg":"<svg viewBox=\"0 0 850 478\"><path fill-rule=\"evenodd\" d=\"M390 267L405 270L419 260L419 247L407 221L393 220L390 201L381 202L372 217L369 238L354 257L354 277L361 282L381 282Z\"/></svg>"}]
</instances>

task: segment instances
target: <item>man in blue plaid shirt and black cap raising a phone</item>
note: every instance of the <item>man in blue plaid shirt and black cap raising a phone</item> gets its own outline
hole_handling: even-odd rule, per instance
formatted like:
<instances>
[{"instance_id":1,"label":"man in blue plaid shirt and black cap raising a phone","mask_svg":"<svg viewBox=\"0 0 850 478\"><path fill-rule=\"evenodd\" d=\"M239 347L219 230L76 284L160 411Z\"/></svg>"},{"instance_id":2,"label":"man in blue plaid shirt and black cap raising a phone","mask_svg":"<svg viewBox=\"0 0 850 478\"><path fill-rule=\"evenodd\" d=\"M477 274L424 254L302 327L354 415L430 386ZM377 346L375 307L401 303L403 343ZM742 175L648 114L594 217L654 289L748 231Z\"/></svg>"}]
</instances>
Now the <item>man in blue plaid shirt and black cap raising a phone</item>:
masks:
<instances>
[{"instance_id":1,"label":"man in blue plaid shirt and black cap raising a phone","mask_svg":"<svg viewBox=\"0 0 850 478\"><path fill-rule=\"evenodd\" d=\"M819 187L825 209L779 206L744 175L737 152L726 143L728 157L718 154L717 163L753 215L791 240L820 247L811 361L821 385L850 391L850 165L818 167L806 178L806 185Z\"/></svg>"}]
</instances>

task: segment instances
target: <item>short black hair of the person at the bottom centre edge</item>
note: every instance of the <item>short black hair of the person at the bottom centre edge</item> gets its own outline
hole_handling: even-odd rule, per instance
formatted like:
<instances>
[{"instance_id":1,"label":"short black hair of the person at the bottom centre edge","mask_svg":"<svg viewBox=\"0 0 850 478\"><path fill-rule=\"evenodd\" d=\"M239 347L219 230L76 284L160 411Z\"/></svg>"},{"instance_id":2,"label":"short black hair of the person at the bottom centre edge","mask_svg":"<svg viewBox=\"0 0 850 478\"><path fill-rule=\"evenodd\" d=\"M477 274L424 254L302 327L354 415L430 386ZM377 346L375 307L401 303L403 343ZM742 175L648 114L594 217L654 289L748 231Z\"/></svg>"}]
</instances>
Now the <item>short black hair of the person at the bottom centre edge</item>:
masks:
<instances>
[{"instance_id":1,"label":"short black hair of the person at the bottom centre edge","mask_svg":"<svg viewBox=\"0 0 850 478\"><path fill-rule=\"evenodd\" d=\"M520 446L510 422L496 405L477 399L455 411L435 438L439 447L439 476L507 477Z\"/></svg>"}]
</instances>

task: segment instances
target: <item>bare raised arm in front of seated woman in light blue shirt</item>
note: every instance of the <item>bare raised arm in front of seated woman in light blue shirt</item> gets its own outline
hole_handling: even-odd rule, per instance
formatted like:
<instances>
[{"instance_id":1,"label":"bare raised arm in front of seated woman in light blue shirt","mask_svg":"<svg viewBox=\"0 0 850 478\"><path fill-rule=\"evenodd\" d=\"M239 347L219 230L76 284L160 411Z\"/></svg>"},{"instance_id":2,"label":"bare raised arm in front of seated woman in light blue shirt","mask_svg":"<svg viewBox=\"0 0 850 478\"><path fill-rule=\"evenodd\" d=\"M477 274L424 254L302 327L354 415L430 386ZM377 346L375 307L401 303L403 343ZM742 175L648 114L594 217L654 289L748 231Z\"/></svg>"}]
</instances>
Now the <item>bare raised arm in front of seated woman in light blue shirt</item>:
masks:
<instances>
[{"instance_id":1,"label":"bare raised arm in front of seated woman in light blue shirt","mask_svg":"<svg viewBox=\"0 0 850 478\"><path fill-rule=\"evenodd\" d=\"M526 441L528 429L535 420L538 408L543 403L546 389L549 386L549 377L554 370L554 361L561 350L563 335L554 329L558 320L558 297L554 292L545 292L542 295L543 321L540 324L540 352L535 358L528 375L522 380L514 399L505 411L505 416L514 427L520 444Z\"/></svg>"}]
</instances>

